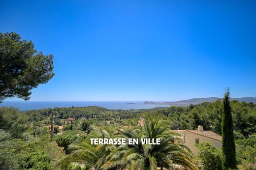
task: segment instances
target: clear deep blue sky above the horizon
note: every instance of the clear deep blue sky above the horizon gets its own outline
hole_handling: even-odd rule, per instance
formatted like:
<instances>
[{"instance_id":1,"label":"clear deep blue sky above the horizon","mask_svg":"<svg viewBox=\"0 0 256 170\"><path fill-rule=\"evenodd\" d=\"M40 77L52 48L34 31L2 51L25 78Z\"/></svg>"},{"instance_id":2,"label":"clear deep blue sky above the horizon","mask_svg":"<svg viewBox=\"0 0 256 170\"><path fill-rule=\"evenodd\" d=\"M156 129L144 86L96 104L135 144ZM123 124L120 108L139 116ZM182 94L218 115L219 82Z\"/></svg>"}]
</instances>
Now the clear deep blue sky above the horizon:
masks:
<instances>
[{"instance_id":1,"label":"clear deep blue sky above the horizon","mask_svg":"<svg viewBox=\"0 0 256 170\"><path fill-rule=\"evenodd\" d=\"M1 0L0 19L54 55L32 101L256 97L255 0Z\"/></svg>"}]
</instances>

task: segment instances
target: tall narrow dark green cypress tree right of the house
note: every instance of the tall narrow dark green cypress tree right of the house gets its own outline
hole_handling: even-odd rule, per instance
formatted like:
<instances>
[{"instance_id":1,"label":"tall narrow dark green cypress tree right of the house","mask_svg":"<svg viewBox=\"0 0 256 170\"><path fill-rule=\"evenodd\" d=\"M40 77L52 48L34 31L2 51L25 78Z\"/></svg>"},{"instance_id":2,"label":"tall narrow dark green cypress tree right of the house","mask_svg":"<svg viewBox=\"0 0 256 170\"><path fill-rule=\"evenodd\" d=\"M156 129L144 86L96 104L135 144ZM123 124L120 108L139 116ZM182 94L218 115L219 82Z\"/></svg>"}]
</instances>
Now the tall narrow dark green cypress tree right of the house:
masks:
<instances>
[{"instance_id":1,"label":"tall narrow dark green cypress tree right of the house","mask_svg":"<svg viewBox=\"0 0 256 170\"><path fill-rule=\"evenodd\" d=\"M234 170L236 167L235 141L233 133L233 120L229 102L229 90L227 89L223 99L222 113L222 151L223 151L223 169Z\"/></svg>"}]
</instances>

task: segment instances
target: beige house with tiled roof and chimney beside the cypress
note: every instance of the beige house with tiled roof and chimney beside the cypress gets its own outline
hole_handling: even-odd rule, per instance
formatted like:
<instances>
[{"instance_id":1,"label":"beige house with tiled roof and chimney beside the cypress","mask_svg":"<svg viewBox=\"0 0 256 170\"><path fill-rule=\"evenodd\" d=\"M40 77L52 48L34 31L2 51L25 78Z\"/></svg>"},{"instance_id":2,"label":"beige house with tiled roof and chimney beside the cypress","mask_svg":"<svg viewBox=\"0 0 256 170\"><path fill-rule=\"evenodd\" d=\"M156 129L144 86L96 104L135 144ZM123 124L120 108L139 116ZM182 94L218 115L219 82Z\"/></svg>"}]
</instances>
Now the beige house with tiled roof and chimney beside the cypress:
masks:
<instances>
[{"instance_id":1,"label":"beige house with tiled roof and chimney beside the cypress","mask_svg":"<svg viewBox=\"0 0 256 170\"><path fill-rule=\"evenodd\" d=\"M172 130L172 132L177 132L181 135L174 142L188 146L193 154L198 152L195 143L199 142L212 142L217 148L222 147L222 136L212 131L204 131L203 126L198 126L197 130Z\"/></svg>"}]
</instances>

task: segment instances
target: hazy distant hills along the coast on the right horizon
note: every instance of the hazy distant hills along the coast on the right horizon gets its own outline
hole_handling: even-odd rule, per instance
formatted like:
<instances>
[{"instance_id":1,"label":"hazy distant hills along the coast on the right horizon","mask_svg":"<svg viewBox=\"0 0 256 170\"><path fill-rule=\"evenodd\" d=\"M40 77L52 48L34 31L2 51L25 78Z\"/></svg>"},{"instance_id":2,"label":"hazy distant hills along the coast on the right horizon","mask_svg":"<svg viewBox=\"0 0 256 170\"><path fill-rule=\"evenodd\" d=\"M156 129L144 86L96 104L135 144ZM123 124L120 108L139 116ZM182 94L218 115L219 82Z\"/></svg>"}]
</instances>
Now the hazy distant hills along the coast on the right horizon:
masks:
<instances>
[{"instance_id":1,"label":"hazy distant hills along the coast on the right horizon","mask_svg":"<svg viewBox=\"0 0 256 170\"><path fill-rule=\"evenodd\" d=\"M206 98L193 98L188 100L181 100L177 102L149 102L145 101L144 104L156 104L156 105L170 105L170 106L189 106L191 104L193 105L199 105L204 102L214 102L217 99L221 99L218 97L206 97ZM237 100L239 102L246 102L246 103L256 103L256 97L241 97L241 98L230 98L230 100Z\"/></svg>"}]
</instances>

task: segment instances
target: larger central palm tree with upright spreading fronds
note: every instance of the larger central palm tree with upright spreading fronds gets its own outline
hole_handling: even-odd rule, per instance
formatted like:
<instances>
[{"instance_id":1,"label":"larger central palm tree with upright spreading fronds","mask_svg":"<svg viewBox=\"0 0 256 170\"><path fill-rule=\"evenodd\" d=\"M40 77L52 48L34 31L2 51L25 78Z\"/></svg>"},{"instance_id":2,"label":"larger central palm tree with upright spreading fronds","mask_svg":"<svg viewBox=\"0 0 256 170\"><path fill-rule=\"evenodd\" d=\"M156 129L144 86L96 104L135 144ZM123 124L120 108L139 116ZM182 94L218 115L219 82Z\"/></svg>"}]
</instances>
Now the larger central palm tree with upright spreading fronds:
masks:
<instances>
[{"instance_id":1,"label":"larger central palm tree with upright spreading fronds","mask_svg":"<svg viewBox=\"0 0 256 170\"><path fill-rule=\"evenodd\" d=\"M197 170L193 163L191 150L182 145L170 142L175 140L177 134L169 131L168 124L160 117L144 115L144 126L133 129L122 129L120 134L125 138L135 139L157 139L159 145L138 144L121 145L107 156L107 161L101 166L102 170L109 170L115 167L127 170L156 170L157 167L174 170L174 165L181 165L190 170ZM117 170L117 169L116 169Z\"/></svg>"}]
</instances>

